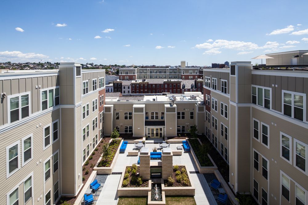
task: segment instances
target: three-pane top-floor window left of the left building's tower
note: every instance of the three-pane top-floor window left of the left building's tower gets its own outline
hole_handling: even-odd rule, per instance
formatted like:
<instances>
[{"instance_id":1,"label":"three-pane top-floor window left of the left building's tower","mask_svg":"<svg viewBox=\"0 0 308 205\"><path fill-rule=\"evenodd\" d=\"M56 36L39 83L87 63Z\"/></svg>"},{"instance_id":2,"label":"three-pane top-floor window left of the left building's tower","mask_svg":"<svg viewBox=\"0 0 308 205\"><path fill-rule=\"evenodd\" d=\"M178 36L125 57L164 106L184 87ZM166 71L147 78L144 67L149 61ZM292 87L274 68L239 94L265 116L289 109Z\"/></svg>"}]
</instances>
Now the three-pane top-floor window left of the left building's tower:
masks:
<instances>
[{"instance_id":1,"label":"three-pane top-floor window left of the left building's tower","mask_svg":"<svg viewBox=\"0 0 308 205\"><path fill-rule=\"evenodd\" d=\"M46 89L41 91L41 110L46 110L59 105L59 88Z\"/></svg>"}]
</instances>

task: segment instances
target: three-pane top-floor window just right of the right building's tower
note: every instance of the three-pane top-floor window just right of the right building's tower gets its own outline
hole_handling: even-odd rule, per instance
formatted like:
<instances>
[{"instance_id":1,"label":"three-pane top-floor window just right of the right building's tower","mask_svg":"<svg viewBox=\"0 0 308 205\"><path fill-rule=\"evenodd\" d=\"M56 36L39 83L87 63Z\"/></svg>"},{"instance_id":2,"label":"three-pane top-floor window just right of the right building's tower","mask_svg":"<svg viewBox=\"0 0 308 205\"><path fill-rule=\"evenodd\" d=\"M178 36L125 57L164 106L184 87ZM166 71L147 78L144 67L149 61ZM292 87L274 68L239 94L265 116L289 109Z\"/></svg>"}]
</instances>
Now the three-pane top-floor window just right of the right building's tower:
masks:
<instances>
[{"instance_id":1,"label":"three-pane top-floor window just right of the right building's tower","mask_svg":"<svg viewBox=\"0 0 308 205\"><path fill-rule=\"evenodd\" d=\"M270 109L271 90L252 86L252 103Z\"/></svg>"}]
</instances>

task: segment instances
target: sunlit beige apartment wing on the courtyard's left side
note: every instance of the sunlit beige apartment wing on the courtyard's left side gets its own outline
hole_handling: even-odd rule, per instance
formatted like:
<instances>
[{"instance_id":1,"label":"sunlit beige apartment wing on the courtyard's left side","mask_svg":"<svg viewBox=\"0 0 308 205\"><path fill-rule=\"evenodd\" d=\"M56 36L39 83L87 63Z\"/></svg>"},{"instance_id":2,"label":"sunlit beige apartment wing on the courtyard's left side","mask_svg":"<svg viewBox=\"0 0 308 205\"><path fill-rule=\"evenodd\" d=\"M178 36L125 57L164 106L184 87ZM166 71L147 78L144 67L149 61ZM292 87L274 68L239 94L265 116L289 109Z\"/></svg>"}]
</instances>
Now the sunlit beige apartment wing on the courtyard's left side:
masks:
<instances>
[{"instance_id":1,"label":"sunlit beige apartment wing on the courtyard's left side","mask_svg":"<svg viewBox=\"0 0 308 205\"><path fill-rule=\"evenodd\" d=\"M0 74L2 204L54 204L83 186L82 165L103 136L105 70Z\"/></svg>"}]
</instances>

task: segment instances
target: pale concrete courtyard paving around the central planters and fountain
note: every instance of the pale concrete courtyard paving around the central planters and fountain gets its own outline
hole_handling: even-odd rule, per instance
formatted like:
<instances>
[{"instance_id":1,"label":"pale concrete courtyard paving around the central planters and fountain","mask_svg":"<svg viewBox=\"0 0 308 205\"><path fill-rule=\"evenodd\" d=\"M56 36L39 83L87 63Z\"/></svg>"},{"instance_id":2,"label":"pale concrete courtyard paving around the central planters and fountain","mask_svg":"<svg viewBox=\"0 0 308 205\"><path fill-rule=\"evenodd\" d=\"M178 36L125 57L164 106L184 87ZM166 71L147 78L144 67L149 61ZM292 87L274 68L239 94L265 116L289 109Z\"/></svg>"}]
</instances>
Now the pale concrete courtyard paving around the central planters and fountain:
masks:
<instances>
[{"instance_id":1,"label":"pale concrete courtyard paving around the central planters and fountain","mask_svg":"<svg viewBox=\"0 0 308 205\"><path fill-rule=\"evenodd\" d=\"M172 150L176 150L176 146L182 144L170 144ZM118 159L115 163L113 172L122 172L126 166L132 166L132 164L137 163L139 156L127 156L129 150L133 150L134 144L128 144L125 150L125 153L119 154ZM145 147L152 151L152 148L158 148L158 144L146 143ZM186 165L189 179L193 183L193 186L196 188L195 191L195 200L197 205L206 205L206 204L217 204L214 196L203 176L203 174L190 174L189 171L198 171L197 166L193 160L191 153L184 153L182 151L182 156L173 156L173 165L184 164ZM107 180L102 188L102 191L98 197L96 204L107 204L107 205L116 205L118 200L117 188L120 183L120 174L111 174L108 175Z\"/></svg>"}]
</instances>

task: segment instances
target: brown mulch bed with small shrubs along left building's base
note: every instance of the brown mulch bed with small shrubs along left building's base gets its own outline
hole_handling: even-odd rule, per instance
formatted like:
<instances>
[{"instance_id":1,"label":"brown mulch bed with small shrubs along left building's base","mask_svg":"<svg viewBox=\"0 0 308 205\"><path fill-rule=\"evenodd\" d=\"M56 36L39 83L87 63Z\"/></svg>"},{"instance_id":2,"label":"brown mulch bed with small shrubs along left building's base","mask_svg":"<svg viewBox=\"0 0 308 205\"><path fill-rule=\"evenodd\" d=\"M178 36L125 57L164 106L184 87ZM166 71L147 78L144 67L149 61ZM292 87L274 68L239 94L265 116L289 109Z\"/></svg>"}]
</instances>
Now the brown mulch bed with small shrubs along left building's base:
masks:
<instances>
[{"instance_id":1,"label":"brown mulch bed with small shrubs along left building's base","mask_svg":"<svg viewBox=\"0 0 308 205\"><path fill-rule=\"evenodd\" d=\"M99 158L100 158L100 156L102 155L102 145L103 144L105 144L105 143L109 143L109 141L110 141L110 137L105 137L105 138L103 138L99 143L98 143L98 145L97 145L97 147L96 148L98 148L98 151L95 151L95 154L93 155L93 153L92 153L92 159L91 160L89 160L88 159L88 161L89 161L89 164L88 165L83 165L82 166L82 169L83 169L83 171L82 171L82 175L83 175L83 177L84 177L84 181L83 181L83 186L84 186L84 184L87 182L87 180L89 179L89 177L90 177L90 175L92 174L92 171L93 171L93 168L94 168L94 166L93 167L91 167L91 164L96 164L97 163L97 161L99 160ZM89 171L89 173L88 174L86 174L86 171ZM83 188L83 187L82 187ZM81 189L82 189L81 188ZM78 194L79 195L79 194ZM58 205L59 204L62 204L63 202L65 202L66 201L66 204L74 204L75 203L75 201L76 201L76 199L77 199L77 197L78 197L78 195L76 196L76 198L69 198L69 197L62 197L60 200L59 200L59 202L57 203Z\"/></svg>"}]
</instances>

